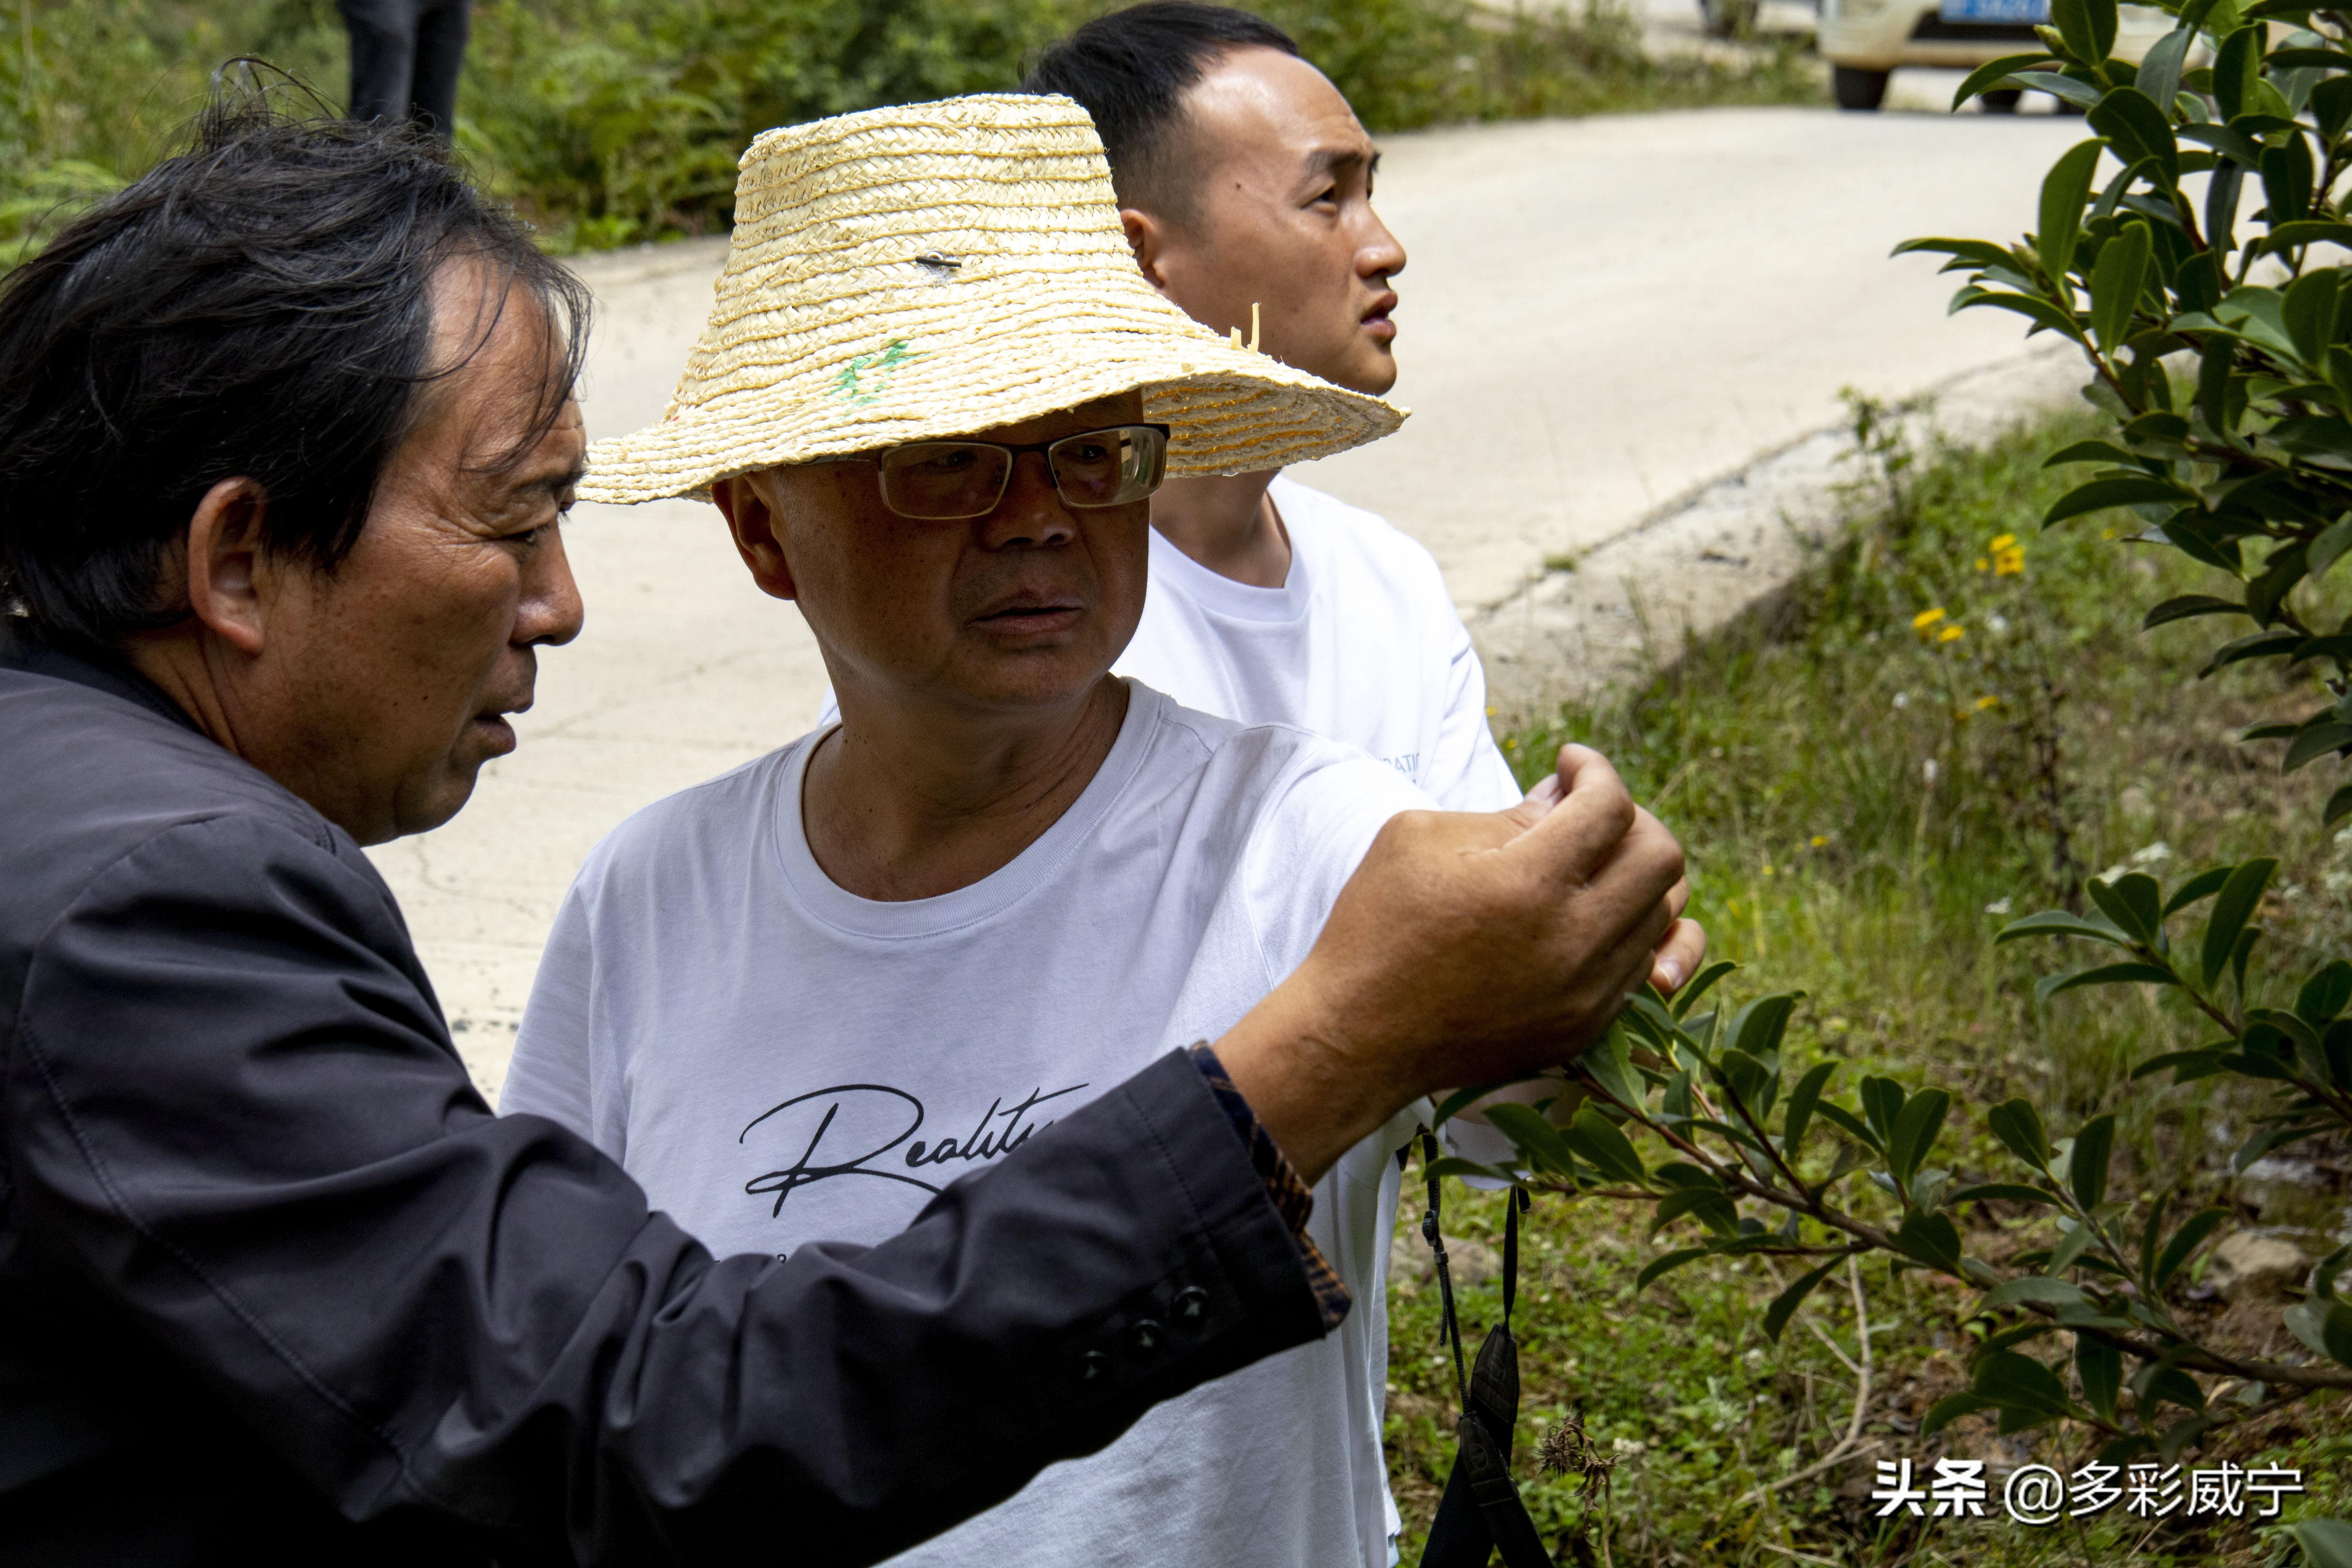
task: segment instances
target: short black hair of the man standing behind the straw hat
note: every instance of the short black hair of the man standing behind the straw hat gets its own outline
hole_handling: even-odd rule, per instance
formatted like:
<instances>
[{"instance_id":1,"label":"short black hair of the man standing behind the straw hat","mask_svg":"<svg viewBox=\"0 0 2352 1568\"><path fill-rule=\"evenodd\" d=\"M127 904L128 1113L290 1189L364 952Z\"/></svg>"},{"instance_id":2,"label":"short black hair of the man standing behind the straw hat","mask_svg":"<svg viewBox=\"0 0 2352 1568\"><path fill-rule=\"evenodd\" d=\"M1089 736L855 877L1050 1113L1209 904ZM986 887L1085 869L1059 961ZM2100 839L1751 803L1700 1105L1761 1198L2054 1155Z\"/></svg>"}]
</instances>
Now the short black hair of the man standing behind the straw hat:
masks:
<instances>
[{"instance_id":1,"label":"short black hair of the man standing behind the straw hat","mask_svg":"<svg viewBox=\"0 0 2352 1568\"><path fill-rule=\"evenodd\" d=\"M1021 92L1077 99L1110 153L1120 205L1190 223L1200 172L1183 167L1183 94L1225 49L1298 54L1289 33L1230 5L1145 0L1049 45Z\"/></svg>"}]
</instances>

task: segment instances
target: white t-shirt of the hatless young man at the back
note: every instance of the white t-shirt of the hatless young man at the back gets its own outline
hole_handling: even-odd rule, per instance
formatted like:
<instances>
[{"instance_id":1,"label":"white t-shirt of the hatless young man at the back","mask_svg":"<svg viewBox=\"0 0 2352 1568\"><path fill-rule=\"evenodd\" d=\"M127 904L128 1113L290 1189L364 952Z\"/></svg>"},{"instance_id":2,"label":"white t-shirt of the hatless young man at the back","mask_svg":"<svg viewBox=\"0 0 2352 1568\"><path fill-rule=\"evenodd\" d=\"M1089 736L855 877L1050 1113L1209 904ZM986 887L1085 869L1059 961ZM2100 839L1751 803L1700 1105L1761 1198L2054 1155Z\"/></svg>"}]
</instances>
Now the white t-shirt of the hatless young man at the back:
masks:
<instances>
[{"instance_id":1,"label":"white t-shirt of the hatless young man at the back","mask_svg":"<svg viewBox=\"0 0 2352 1568\"><path fill-rule=\"evenodd\" d=\"M1143 625L1115 670L1200 712L1345 741L1449 811L1517 806L1486 670L1430 552L1287 475L1268 496L1291 536L1282 588L1218 576L1152 529Z\"/></svg>"}]
</instances>

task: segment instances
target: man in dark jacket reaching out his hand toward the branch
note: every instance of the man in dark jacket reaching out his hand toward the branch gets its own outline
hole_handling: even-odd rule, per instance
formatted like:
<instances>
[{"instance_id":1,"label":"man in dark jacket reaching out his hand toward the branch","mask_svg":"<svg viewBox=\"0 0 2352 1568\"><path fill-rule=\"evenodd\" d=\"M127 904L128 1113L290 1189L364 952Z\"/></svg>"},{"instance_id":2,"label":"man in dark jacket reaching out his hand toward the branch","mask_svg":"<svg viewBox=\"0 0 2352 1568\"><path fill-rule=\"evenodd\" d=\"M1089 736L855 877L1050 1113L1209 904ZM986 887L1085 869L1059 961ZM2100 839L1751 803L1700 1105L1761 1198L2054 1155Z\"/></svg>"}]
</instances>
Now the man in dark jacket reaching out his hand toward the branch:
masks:
<instances>
[{"instance_id":1,"label":"man in dark jacket reaching out his hand toward the branch","mask_svg":"<svg viewBox=\"0 0 2352 1568\"><path fill-rule=\"evenodd\" d=\"M889 1556L1324 1333L1303 1180L1696 961L1566 755L1392 823L1242 1025L906 1234L713 1258L489 1114L360 853L581 625L579 313L430 139L247 110L0 289L12 1568Z\"/></svg>"}]
</instances>

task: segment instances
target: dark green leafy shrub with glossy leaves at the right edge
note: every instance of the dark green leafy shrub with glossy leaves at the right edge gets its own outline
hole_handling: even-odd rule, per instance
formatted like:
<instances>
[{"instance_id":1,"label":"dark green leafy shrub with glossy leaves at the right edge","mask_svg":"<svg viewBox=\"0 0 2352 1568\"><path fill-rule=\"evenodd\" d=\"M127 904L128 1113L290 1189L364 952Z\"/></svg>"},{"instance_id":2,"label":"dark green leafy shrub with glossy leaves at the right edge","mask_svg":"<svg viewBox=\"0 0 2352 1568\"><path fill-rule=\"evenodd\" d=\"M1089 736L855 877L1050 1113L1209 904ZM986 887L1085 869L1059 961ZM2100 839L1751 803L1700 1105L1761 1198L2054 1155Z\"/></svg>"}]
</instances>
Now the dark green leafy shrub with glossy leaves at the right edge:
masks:
<instances>
[{"instance_id":1,"label":"dark green leafy shrub with glossy leaves at the right edge","mask_svg":"<svg viewBox=\"0 0 2352 1568\"><path fill-rule=\"evenodd\" d=\"M2053 0L2044 49L1973 73L1959 94L2037 87L2089 113L2096 136L2046 179L2039 233L1903 249L1947 254L1971 275L1955 310L2013 310L2082 348L2086 397L2105 418L2049 456L2091 477L2042 524L2119 520L2117 545L2216 578L2164 597L2145 630L2251 623L2187 668L2303 672L2300 710L2241 741L2284 743L2286 773L2338 766L2352 757L2352 569L2338 569L2352 555L2352 270L2326 247L2352 249L2336 193L2352 169L2352 16L2296 0L2169 9L2176 31L2133 68L2107 56L2112 0ZM2204 176L2201 202L2190 176ZM2263 205L2241 214L2253 193ZM2025 548L1987 538L1987 585L2023 576ZM1912 630L1938 646L1966 635L1940 602ZM2004 677L2039 682L2051 703L2056 630L2042 628L2044 644ZM1957 675L1945 705L1955 726L1966 722ZM2063 792L2044 804L2063 872L2067 804ZM2352 783L2331 788L2319 816L2352 816ZM2166 1020L2145 1032L2171 1039L2143 1048L2131 1077L2237 1084L2256 1126L2234 1171L2352 1131L2345 931L2321 933L2307 969L2277 971L2265 957L2277 865L2258 853L2169 886L2117 865L2082 884L2082 910L2030 914L1992 938L2065 945L2065 969L2034 985L2037 1006L2140 987L2110 1011L2154 1001ZM2180 1291L2234 1215L2176 1206L2178 1173L2119 1161L2114 1110L2051 1128L2027 1098L1971 1105L1966 1086L1842 1081L1835 1058L1788 1051L1797 994L1733 1006L1712 994L1729 973L1710 966L1672 1004L1635 999L1543 1112L1491 1112L1538 1187L1646 1204L1656 1227L1684 1237L1642 1284L1698 1260L1780 1258L1792 1279L1762 1312L1778 1338L1858 1258L1950 1279L1980 1293L1980 1338L1969 1387L1926 1413L1922 1436L1971 1415L1992 1415L2002 1434L2056 1425L2093 1434L2105 1465L2173 1465L2230 1427L2352 1389L2352 1248L2324 1258L2279 1312L2298 1354L2225 1347L2180 1309ZM2006 1168L1966 1168L1962 1119L1990 1133ZM2020 1227L2034 1246L2016 1248ZM2352 1561L2352 1530L2336 1521L2300 1521L2293 1542L2317 1563Z\"/></svg>"}]
</instances>

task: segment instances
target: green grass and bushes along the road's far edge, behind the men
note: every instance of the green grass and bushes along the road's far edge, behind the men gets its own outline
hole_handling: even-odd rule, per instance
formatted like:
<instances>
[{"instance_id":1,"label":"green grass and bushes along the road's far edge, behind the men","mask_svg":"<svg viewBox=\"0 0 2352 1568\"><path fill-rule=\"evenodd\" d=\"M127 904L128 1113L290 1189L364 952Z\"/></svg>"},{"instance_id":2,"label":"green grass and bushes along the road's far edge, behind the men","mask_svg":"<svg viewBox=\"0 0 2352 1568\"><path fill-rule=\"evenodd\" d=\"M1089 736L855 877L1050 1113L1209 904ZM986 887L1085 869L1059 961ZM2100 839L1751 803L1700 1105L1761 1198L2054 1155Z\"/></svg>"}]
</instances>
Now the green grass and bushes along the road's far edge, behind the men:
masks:
<instances>
[{"instance_id":1,"label":"green grass and bushes along the road's far edge, behind the men","mask_svg":"<svg viewBox=\"0 0 2352 1568\"><path fill-rule=\"evenodd\" d=\"M750 139L875 103L1002 92L1108 0L482 0L459 146L553 249L715 233ZM1613 5L1496 16L1468 0L1270 0L1381 132L1696 103L1818 103L1792 47L1653 61ZM14 0L0 26L0 263L134 179L256 54L343 101L327 0Z\"/></svg>"}]
</instances>

